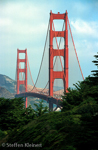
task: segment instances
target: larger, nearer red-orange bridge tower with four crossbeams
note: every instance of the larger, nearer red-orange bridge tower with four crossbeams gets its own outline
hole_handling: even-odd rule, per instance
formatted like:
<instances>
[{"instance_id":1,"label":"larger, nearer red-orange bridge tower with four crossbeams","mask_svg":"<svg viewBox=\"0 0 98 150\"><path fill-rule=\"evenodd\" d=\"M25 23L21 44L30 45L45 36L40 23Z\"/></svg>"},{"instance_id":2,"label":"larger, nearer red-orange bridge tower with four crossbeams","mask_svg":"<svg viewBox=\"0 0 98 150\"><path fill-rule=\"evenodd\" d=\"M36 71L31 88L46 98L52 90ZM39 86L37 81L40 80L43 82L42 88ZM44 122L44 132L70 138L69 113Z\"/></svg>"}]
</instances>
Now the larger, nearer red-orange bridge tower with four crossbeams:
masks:
<instances>
[{"instance_id":1,"label":"larger, nearer red-orange bridge tower with four crossbeams","mask_svg":"<svg viewBox=\"0 0 98 150\"><path fill-rule=\"evenodd\" d=\"M49 47L49 96L53 97L53 84L55 79L62 79L64 83L64 91L68 88L68 29L67 29L67 11L64 14L54 14L50 12L50 47ZM54 19L63 19L65 22L65 31L53 31L52 24ZM64 38L64 49L53 49L53 38ZM59 52L58 52L59 51ZM53 70L54 56L63 56L64 71ZM49 108L53 109L53 103L49 102Z\"/></svg>"}]
</instances>

